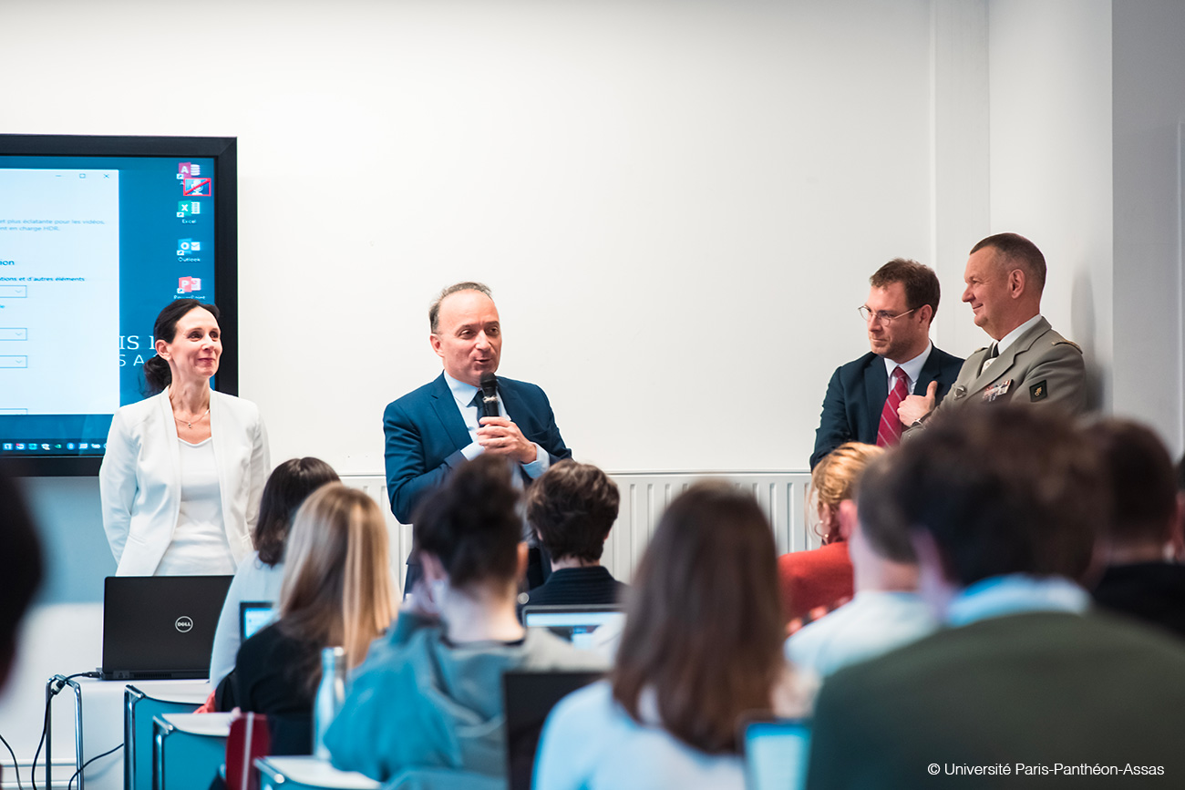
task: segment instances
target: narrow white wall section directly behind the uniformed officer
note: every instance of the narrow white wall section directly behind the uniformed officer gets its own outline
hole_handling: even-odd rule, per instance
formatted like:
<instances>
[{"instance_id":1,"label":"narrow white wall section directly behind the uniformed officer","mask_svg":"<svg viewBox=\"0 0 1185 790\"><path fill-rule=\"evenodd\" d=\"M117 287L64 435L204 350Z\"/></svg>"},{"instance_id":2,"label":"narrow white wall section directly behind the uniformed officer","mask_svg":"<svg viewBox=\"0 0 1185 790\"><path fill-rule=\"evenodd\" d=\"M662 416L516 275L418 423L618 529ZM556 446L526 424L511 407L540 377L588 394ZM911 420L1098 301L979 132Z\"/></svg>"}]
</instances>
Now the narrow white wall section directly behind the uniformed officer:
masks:
<instances>
[{"instance_id":1,"label":"narrow white wall section directly behind the uniformed officer","mask_svg":"<svg viewBox=\"0 0 1185 790\"><path fill-rule=\"evenodd\" d=\"M1110 0L988 6L991 232L1045 253L1042 313L1113 404ZM982 333L980 333L982 334Z\"/></svg>"}]
</instances>

